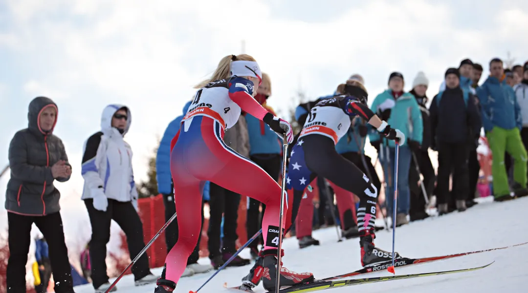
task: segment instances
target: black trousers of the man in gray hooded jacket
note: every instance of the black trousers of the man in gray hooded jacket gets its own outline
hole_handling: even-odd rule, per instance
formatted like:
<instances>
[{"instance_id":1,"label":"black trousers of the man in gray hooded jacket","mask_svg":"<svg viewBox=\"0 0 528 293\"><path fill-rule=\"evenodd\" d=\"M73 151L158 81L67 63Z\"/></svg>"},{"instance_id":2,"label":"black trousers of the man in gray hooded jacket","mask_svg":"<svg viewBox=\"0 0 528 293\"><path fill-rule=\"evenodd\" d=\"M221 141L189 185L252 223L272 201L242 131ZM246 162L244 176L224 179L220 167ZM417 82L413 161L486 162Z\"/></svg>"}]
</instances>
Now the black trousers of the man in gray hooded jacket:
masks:
<instances>
[{"instance_id":1,"label":"black trousers of the man in gray hooded jacket","mask_svg":"<svg viewBox=\"0 0 528 293\"><path fill-rule=\"evenodd\" d=\"M36 227L48 242L49 257L55 280L55 292L73 292L73 281L71 278L70 260L68 248L64 242L64 231L62 229L62 218L60 212L46 216L22 216L8 212L8 243L10 256L7 261L7 293L26 292L26 262L27 253L30 250L31 226Z\"/></svg>"}]
</instances>

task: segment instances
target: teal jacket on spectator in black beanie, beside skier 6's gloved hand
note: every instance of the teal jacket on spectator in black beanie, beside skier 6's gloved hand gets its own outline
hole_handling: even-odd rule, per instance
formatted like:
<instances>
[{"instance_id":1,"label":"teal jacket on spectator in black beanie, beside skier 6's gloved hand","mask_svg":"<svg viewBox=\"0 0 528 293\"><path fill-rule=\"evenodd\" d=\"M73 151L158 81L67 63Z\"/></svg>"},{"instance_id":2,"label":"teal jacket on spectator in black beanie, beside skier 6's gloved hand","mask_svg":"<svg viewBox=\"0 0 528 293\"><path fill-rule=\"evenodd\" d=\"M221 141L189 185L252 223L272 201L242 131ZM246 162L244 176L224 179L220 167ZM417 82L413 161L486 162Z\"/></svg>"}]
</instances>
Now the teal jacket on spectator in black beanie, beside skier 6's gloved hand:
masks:
<instances>
[{"instance_id":1,"label":"teal jacket on spectator in black beanie, beside skier 6's gloved hand","mask_svg":"<svg viewBox=\"0 0 528 293\"><path fill-rule=\"evenodd\" d=\"M383 93L376 96L372 102L371 110L376 113L378 107L387 99L394 100L391 90L386 90ZM400 96L391 110L391 116L387 121L391 128L398 129L405 135L406 144L407 141L413 140L418 143L422 143L423 137L423 121L422 113L418 106L418 102L414 99L411 93L404 93ZM379 132L371 132L369 135L370 141L379 141ZM394 148L395 144L393 140L389 141L389 147Z\"/></svg>"}]
</instances>

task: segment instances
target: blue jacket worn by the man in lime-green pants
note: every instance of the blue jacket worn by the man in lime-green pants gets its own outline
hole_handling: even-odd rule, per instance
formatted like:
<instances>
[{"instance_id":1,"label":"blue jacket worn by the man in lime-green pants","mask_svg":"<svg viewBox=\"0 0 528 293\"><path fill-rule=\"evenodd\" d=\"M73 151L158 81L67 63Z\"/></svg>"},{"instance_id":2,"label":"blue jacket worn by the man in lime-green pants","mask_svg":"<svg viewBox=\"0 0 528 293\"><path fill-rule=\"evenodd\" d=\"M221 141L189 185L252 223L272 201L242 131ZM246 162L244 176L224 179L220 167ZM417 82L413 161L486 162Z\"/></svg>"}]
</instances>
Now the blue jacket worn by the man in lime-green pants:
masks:
<instances>
[{"instance_id":1,"label":"blue jacket worn by the man in lime-green pants","mask_svg":"<svg viewBox=\"0 0 528 293\"><path fill-rule=\"evenodd\" d=\"M499 81L497 77L489 76L477 88L477 95L482 106L485 131L491 131L493 126L508 130L522 128L521 108L512 87L506 84L506 79Z\"/></svg>"}]
</instances>

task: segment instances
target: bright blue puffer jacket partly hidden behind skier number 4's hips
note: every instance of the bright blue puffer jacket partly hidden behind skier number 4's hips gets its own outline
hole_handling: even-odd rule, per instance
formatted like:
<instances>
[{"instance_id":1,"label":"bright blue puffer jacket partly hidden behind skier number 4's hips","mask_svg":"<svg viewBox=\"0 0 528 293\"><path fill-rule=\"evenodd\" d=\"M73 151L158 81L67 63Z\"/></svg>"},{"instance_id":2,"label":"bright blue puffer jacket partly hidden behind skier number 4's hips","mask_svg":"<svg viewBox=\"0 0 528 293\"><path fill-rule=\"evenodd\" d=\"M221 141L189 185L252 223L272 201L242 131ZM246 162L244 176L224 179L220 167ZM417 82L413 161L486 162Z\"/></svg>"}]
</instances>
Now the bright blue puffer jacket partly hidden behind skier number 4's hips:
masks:
<instances>
[{"instance_id":1,"label":"bright blue puffer jacket partly hidden behind skier number 4's hips","mask_svg":"<svg viewBox=\"0 0 528 293\"><path fill-rule=\"evenodd\" d=\"M159 142L159 148L156 154L156 181L158 183L158 192L162 194L171 194L172 189L172 175L171 175L171 141L174 135L180 130L180 123L183 115L187 113L187 109L191 105L189 101L183 107L183 114L177 116L176 119L168 124L162 140ZM203 199L209 200L209 181L205 182L203 189Z\"/></svg>"}]
</instances>

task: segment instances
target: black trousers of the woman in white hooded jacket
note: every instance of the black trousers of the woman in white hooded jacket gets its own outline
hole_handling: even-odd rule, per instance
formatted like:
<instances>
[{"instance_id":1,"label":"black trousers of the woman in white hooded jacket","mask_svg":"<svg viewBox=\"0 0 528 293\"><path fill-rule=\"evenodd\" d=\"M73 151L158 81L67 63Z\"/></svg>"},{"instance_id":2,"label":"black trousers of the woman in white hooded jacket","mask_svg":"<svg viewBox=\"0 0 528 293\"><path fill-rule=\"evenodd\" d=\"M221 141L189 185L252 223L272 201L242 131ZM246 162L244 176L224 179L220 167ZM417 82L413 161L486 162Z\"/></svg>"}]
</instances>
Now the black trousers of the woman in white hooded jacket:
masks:
<instances>
[{"instance_id":1,"label":"black trousers of the woman in white hooded jacket","mask_svg":"<svg viewBox=\"0 0 528 293\"><path fill-rule=\"evenodd\" d=\"M121 227L127 237L130 259L134 259L145 248L143 241L143 224L132 202L120 202L108 199L106 212L96 210L92 199L85 199L84 204L88 210L92 226L92 239L90 242L90 264L92 267L93 288L98 288L108 282L106 274L106 244L110 241L110 222L112 220ZM141 279L150 274L148 256L145 252L132 266L134 279Z\"/></svg>"}]
</instances>

